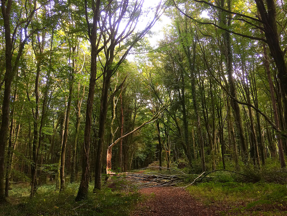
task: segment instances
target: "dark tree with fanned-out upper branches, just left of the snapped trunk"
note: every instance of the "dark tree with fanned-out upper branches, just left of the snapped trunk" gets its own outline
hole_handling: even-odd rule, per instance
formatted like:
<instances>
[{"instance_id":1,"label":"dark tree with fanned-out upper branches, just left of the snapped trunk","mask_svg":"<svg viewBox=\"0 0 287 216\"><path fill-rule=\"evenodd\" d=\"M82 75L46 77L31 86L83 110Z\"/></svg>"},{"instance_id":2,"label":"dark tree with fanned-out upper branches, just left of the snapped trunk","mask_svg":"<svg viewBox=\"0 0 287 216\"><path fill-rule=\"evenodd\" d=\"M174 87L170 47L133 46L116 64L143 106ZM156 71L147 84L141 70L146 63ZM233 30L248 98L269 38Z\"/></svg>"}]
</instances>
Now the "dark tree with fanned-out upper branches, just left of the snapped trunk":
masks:
<instances>
[{"instance_id":1,"label":"dark tree with fanned-out upper branches, just left of the snapped trunk","mask_svg":"<svg viewBox=\"0 0 287 216\"><path fill-rule=\"evenodd\" d=\"M142 15L142 4L143 1L134 2L134 4L129 3L128 0L122 0L121 2L115 2L111 4L110 7L106 9L104 16L107 16L108 22L103 23L106 30L106 34L103 34L104 42L110 40L110 43L105 43L105 64L103 67L103 84L102 84L102 95L101 95L101 107L99 114L99 131L98 131L98 146L96 154L96 165L95 165L95 188L101 189L101 174L102 174L102 152L104 144L105 135L105 122L107 118L108 105L111 102L111 98L121 89L124 82L119 85L119 87L112 93L111 98L108 99L108 93L111 83L111 77L116 73L118 67L125 60L127 54L133 48L133 46L147 33L147 31L153 26L154 22L159 17L160 4L157 6L154 18L149 24L141 31L135 35L132 33L135 31L140 15ZM119 13L117 13L119 11ZM121 22L126 22L126 25L122 31L119 31L119 26ZM124 45L120 47L120 43L123 42ZM116 50L116 49L120 50ZM118 53L121 50L125 51L121 54ZM119 60L117 63L114 62L115 57Z\"/></svg>"}]
</instances>

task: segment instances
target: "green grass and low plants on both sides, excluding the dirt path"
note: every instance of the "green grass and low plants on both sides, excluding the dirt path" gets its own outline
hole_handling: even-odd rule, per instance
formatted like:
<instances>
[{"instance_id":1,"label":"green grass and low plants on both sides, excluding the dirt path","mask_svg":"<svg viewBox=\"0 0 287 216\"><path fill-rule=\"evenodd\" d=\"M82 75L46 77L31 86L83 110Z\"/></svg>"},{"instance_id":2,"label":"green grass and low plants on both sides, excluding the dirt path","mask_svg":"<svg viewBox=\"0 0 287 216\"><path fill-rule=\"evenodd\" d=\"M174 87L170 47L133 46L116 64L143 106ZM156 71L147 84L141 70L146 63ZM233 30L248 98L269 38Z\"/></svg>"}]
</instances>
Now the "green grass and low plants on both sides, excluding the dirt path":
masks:
<instances>
[{"instance_id":1,"label":"green grass and low plants on both sides, excluding the dirt path","mask_svg":"<svg viewBox=\"0 0 287 216\"><path fill-rule=\"evenodd\" d=\"M169 171L163 169L150 168L145 171L169 174ZM185 168L185 172L189 173L189 170ZM246 171L244 173L250 176L248 179L251 179L252 182L253 179L259 179L259 181L256 183L246 182L242 175L218 171L213 173L213 178L206 180L209 182L191 185L187 189L199 202L215 206L223 216L286 216L286 174L278 173L275 168L267 166L260 171ZM194 175L189 174L182 184L187 185L194 178ZM267 181L263 181L265 179ZM240 182L241 180L243 182ZM273 183L270 183L271 180ZM127 216L137 206L137 202L148 199L147 196L141 195L135 188L134 190L124 188L122 185L126 185L127 182L122 178L111 177L110 182L110 188L103 182L102 190L97 191L95 194L92 192L92 182L89 186L88 198L80 202L75 202L79 188L78 183L66 184L66 189L63 192L55 191L55 185L49 183L50 185L39 187L37 194L32 199L29 198L29 183L13 184L12 190L9 191L8 202L0 205L0 215ZM154 196L154 194L151 194L151 196Z\"/></svg>"}]
</instances>

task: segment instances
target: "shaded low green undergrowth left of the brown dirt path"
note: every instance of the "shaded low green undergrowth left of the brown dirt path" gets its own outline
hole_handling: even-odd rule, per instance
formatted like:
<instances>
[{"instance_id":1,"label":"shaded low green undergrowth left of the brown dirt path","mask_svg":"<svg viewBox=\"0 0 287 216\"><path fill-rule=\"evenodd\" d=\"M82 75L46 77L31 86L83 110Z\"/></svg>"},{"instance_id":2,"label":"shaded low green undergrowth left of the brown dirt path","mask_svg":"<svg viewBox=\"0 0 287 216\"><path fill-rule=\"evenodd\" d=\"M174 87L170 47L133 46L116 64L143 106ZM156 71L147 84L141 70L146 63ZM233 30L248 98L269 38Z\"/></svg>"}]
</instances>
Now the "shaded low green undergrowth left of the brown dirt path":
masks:
<instances>
[{"instance_id":1,"label":"shaded low green undergrowth left of the brown dirt path","mask_svg":"<svg viewBox=\"0 0 287 216\"><path fill-rule=\"evenodd\" d=\"M103 187L92 193L89 186L88 199L75 202L79 184L67 184L65 191L55 191L55 185L39 187L34 198L30 199L29 187L17 185L10 191L8 202L0 205L0 215L128 215L140 199L136 191L117 190Z\"/></svg>"}]
</instances>

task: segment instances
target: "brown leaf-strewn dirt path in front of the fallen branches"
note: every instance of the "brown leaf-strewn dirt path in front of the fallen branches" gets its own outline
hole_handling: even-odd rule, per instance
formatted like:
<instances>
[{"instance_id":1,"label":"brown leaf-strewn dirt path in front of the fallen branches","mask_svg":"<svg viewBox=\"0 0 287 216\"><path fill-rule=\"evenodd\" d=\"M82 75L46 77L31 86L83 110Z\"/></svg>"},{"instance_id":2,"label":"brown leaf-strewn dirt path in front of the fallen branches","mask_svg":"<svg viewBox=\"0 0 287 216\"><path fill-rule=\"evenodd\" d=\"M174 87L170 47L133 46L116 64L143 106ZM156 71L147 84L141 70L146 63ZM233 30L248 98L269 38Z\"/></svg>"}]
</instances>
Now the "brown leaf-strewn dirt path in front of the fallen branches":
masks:
<instances>
[{"instance_id":1,"label":"brown leaf-strewn dirt path in front of the fallen branches","mask_svg":"<svg viewBox=\"0 0 287 216\"><path fill-rule=\"evenodd\" d=\"M140 193L150 196L140 203L131 216L216 216L215 207L196 201L182 189L172 187L144 188Z\"/></svg>"}]
</instances>

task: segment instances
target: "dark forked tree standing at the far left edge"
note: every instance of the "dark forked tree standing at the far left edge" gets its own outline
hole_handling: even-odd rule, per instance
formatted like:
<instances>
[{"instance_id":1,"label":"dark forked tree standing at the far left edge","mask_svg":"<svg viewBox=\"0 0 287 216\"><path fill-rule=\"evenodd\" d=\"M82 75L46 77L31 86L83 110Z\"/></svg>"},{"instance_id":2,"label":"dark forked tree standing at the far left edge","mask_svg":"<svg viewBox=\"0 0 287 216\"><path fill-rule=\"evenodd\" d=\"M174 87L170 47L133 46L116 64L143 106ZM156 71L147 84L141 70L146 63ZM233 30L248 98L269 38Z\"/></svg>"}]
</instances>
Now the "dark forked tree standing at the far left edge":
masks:
<instances>
[{"instance_id":1,"label":"dark forked tree standing at the far left edge","mask_svg":"<svg viewBox=\"0 0 287 216\"><path fill-rule=\"evenodd\" d=\"M28 34L28 27L31 23L32 17L34 13L37 10L37 4L36 1L33 2L32 9L27 12L25 18L23 20L19 21L21 18L21 13L17 13L18 15L18 21L15 28L12 29L11 34L11 9L12 9L12 0L1 1L1 11L4 21L4 29L5 29L5 87L4 87L4 97L3 97L3 105L2 105L2 124L0 128L0 200L1 202L5 200L4 197L4 158L5 158L5 145L6 145L6 138L7 138L7 132L9 128L9 108L10 108L10 94L11 94L11 82L13 81L14 75L16 71L18 70L18 64L20 57L22 55L22 51L24 49L24 45L28 38L30 38L31 35L33 35L34 32L38 31L38 29L32 31L30 34ZM26 6L26 5L25 5ZM24 9L24 5L21 5L21 7ZM27 11L27 10L26 10ZM17 43L17 32L22 31L21 26L24 25L24 39L20 43L18 53L16 56L16 59L12 60L12 55L14 54L15 50L13 47L15 46L15 43Z\"/></svg>"}]
</instances>

